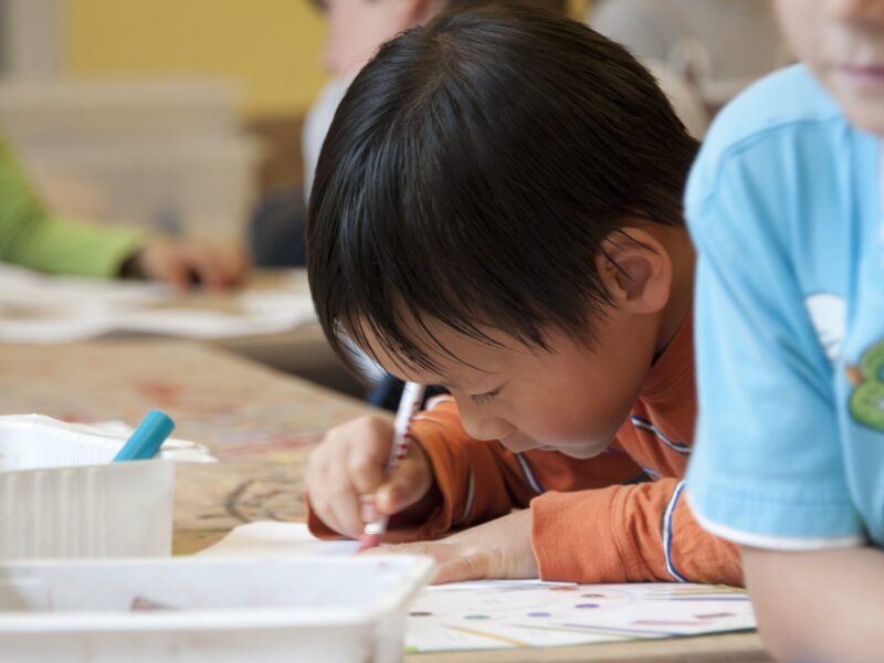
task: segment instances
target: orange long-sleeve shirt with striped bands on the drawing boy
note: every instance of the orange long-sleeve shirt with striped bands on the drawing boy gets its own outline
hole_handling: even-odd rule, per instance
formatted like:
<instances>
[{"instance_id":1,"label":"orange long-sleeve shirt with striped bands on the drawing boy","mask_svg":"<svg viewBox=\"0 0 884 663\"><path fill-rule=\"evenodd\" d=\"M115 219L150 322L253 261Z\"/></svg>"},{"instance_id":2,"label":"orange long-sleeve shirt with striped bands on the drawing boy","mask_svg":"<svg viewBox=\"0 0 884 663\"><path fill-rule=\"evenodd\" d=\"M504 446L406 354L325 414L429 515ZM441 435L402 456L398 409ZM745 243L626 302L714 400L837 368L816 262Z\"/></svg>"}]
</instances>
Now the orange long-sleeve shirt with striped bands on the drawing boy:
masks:
<instances>
[{"instance_id":1,"label":"orange long-sleeve shirt with striped bands on the drawing boy","mask_svg":"<svg viewBox=\"0 0 884 663\"><path fill-rule=\"evenodd\" d=\"M737 549L702 529L684 498L695 417L690 316L649 371L614 442L593 459L513 453L474 440L453 399L440 399L415 418L412 432L430 457L442 501L409 538L436 537L530 505L532 545L545 580L741 585ZM317 535L333 534L312 513L309 525Z\"/></svg>"}]
</instances>

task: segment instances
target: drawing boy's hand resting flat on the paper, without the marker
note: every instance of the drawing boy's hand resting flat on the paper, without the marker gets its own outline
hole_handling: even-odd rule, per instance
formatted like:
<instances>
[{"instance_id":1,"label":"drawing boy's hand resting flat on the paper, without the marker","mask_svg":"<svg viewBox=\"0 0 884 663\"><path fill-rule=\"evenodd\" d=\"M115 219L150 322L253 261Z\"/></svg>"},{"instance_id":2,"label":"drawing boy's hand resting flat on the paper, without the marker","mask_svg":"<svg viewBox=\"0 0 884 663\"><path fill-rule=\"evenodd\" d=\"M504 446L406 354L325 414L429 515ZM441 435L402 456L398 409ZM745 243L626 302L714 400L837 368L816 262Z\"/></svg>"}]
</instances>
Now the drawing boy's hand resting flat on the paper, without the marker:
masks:
<instances>
[{"instance_id":1,"label":"drawing boy's hand resting flat on the paper, without the marker","mask_svg":"<svg viewBox=\"0 0 884 663\"><path fill-rule=\"evenodd\" d=\"M438 541L372 548L366 554L430 555L439 562L433 582L537 578L532 512L524 509Z\"/></svg>"}]
</instances>

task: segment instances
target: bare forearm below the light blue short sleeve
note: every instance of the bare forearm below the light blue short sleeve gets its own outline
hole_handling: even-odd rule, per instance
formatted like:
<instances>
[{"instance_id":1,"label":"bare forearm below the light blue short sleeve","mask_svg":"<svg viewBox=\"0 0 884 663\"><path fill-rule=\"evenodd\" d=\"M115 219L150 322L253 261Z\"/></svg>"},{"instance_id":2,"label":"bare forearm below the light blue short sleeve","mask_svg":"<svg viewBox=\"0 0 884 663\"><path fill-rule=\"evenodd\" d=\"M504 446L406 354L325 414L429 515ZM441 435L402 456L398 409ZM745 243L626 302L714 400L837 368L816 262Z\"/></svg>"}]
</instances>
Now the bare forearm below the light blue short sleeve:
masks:
<instances>
[{"instance_id":1,"label":"bare forearm below the light blue short sleeve","mask_svg":"<svg viewBox=\"0 0 884 663\"><path fill-rule=\"evenodd\" d=\"M740 551L761 639L778 660L881 660L884 551Z\"/></svg>"}]
</instances>

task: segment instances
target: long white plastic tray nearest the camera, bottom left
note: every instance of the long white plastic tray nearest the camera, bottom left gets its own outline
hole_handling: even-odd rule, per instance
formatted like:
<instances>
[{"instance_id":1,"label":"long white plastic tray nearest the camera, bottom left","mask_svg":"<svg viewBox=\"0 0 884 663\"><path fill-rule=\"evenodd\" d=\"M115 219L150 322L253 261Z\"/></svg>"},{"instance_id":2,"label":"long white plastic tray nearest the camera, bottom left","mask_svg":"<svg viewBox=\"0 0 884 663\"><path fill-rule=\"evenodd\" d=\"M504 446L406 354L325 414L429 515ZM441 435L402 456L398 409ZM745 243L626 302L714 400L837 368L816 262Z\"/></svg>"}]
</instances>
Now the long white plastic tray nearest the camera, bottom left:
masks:
<instances>
[{"instance_id":1,"label":"long white plastic tray nearest the camera, bottom left","mask_svg":"<svg viewBox=\"0 0 884 663\"><path fill-rule=\"evenodd\" d=\"M0 565L15 663L393 663L427 557ZM133 612L134 599L169 609Z\"/></svg>"}]
</instances>

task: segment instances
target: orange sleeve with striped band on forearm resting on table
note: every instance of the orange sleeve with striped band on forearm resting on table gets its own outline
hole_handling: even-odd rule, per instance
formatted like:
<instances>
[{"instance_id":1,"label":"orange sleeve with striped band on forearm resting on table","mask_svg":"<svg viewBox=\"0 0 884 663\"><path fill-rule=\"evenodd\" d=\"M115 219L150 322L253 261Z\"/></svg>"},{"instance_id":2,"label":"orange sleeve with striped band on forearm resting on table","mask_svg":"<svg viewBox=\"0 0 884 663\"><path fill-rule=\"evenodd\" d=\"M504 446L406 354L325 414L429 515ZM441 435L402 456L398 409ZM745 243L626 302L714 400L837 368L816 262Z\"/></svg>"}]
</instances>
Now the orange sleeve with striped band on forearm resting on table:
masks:
<instances>
[{"instance_id":1,"label":"orange sleeve with striped band on forearm resting on table","mask_svg":"<svg viewBox=\"0 0 884 663\"><path fill-rule=\"evenodd\" d=\"M532 546L543 580L743 585L737 548L697 524L676 478L537 497Z\"/></svg>"}]
</instances>

